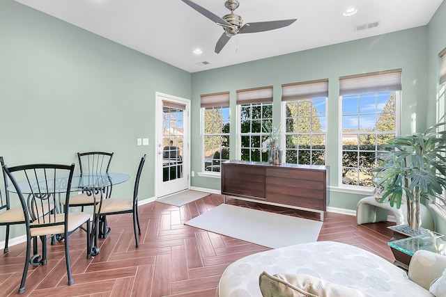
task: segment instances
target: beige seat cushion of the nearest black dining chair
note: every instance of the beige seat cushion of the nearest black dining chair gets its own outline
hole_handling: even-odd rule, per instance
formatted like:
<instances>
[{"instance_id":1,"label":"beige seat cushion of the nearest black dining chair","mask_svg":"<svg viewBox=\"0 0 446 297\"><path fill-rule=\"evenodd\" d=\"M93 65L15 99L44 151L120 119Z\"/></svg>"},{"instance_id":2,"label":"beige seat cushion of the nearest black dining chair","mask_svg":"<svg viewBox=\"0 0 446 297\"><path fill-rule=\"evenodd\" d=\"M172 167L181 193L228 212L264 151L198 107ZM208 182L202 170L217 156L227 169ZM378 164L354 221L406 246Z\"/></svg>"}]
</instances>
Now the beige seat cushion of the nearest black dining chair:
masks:
<instances>
[{"instance_id":1,"label":"beige seat cushion of the nearest black dining chair","mask_svg":"<svg viewBox=\"0 0 446 297\"><path fill-rule=\"evenodd\" d=\"M50 216L50 215L49 215ZM70 213L68 217L68 232L76 230L77 227L84 224L87 220L91 218L91 214L85 212L79 213ZM63 222L65 220L65 214L56 214L56 219L54 217L51 218L52 222ZM49 222L48 216L40 218L40 223L43 221ZM39 220L35 220L31 225L39 225ZM64 225L55 225L55 226L47 226L47 227L33 227L31 228L31 236L42 236L42 235L51 235L51 234L61 234L64 230Z\"/></svg>"}]
</instances>

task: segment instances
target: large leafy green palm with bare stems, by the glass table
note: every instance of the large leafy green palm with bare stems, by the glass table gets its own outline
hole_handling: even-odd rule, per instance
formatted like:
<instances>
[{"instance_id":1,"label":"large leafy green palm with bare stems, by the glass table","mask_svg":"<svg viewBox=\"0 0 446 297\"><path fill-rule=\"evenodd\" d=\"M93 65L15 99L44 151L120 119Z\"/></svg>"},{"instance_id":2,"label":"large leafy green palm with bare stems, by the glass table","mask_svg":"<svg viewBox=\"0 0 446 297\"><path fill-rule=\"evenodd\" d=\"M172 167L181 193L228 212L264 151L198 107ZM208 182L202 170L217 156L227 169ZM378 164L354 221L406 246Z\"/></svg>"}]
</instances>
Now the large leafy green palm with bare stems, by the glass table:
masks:
<instances>
[{"instance_id":1,"label":"large leafy green palm with bare stems, by the glass table","mask_svg":"<svg viewBox=\"0 0 446 297\"><path fill-rule=\"evenodd\" d=\"M387 150L378 156L380 167L374 170L376 184L384 190L380 202L388 199L392 207L396 204L399 209L406 200L408 227L415 234L422 223L421 202L445 205L442 193L446 188L446 131L438 131L445 124L392 138L385 145Z\"/></svg>"}]
</instances>

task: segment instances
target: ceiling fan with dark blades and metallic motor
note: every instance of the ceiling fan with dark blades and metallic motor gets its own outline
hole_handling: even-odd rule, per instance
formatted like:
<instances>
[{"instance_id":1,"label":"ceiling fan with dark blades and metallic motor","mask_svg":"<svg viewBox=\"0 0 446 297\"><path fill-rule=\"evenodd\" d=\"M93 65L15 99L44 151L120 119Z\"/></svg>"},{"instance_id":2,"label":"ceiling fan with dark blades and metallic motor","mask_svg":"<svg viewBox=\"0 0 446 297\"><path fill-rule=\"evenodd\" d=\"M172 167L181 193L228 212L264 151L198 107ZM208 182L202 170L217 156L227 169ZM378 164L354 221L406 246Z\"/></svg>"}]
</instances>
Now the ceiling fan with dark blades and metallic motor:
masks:
<instances>
[{"instance_id":1,"label":"ceiling fan with dark blades and metallic motor","mask_svg":"<svg viewBox=\"0 0 446 297\"><path fill-rule=\"evenodd\" d=\"M215 45L215 52L218 54L229 41L229 39L236 34L241 33L256 33L263 31L270 31L274 29L279 29L285 26L289 26L295 22L296 19L282 19L280 21L270 21L270 22L256 22L256 23L246 23L243 25L243 19L240 15L236 15L233 13L234 10L238 8L240 3L238 0L227 0L224 3L224 6L231 10L229 15L224 15L224 17L219 17L213 13L211 13L206 8L199 6L197 3L194 3L190 0L182 0L188 6L197 10L201 15L204 15L211 21L215 22L215 24L222 26L224 29L224 33L220 36L220 39L217 41L217 45Z\"/></svg>"}]
</instances>

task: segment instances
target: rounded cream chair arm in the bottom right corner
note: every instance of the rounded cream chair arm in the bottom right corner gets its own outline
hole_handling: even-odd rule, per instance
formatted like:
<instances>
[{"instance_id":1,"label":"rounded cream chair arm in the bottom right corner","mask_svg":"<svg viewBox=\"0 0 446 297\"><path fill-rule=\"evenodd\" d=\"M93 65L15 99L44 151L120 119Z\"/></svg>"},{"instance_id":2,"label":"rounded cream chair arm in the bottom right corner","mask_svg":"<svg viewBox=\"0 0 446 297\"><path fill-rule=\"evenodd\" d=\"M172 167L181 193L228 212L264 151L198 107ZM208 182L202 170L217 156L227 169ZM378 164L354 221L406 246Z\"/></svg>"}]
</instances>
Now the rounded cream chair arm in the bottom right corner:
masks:
<instances>
[{"instance_id":1,"label":"rounded cream chair arm in the bottom right corner","mask_svg":"<svg viewBox=\"0 0 446 297\"><path fill-rule=\"evenodd\" d=\"M429 290L431 283L436 280L446 268L446 256L438 255L427 250L417 250L410 259L409 280Z\"/></svg>"}]
</instances>

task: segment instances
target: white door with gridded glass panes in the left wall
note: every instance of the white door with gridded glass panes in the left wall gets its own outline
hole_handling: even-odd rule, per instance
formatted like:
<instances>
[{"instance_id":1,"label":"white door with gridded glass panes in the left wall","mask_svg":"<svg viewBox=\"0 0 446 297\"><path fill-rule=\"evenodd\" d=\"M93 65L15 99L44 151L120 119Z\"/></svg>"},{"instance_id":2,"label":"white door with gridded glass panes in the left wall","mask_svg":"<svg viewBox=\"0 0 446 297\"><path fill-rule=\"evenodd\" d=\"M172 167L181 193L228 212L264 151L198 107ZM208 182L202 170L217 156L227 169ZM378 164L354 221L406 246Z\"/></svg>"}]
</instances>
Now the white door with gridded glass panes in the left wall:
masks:
<instances>
[{"instance_id":1,"label":"white door with gridded glass panes in the left wall","mask_svg":"<svg viewBox=\"0 0 446 297\"><path fill-rule=\"evenodd\" d=\"M156 93L155 195L189 188L190 100Z\"/></svg>"}]
</instances>

